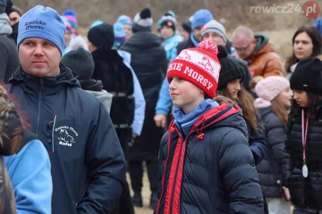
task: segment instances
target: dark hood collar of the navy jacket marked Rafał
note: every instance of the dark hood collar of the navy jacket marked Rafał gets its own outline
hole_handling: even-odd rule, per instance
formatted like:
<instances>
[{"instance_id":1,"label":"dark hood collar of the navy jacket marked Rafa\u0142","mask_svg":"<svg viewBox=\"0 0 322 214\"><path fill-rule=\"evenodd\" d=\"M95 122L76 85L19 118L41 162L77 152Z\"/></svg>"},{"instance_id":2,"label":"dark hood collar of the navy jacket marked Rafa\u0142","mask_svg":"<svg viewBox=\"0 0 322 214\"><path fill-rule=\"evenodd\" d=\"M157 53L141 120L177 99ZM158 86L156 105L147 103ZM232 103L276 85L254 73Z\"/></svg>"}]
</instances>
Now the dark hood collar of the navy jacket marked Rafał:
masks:
<instances>
[{"instance_id":1,"label":"dark hood collar of the navy jacket marked Rafa\u0142","mask_svg":"<svg viewBox=\"0 0 322 214\"><path fill-rule=\"evenodd\" d=\"M40 90L42 90L42 93L45 95L56 94L66 86L81 88L81 85L77 80L77 73L73 72L62 63L60 63L59 68L61 73L57 77L37 77L25 73L21 66L19 66L11 75L8 83L21 84L24 91L32 95L38 95Z\"/></svg>"}]
</instances>

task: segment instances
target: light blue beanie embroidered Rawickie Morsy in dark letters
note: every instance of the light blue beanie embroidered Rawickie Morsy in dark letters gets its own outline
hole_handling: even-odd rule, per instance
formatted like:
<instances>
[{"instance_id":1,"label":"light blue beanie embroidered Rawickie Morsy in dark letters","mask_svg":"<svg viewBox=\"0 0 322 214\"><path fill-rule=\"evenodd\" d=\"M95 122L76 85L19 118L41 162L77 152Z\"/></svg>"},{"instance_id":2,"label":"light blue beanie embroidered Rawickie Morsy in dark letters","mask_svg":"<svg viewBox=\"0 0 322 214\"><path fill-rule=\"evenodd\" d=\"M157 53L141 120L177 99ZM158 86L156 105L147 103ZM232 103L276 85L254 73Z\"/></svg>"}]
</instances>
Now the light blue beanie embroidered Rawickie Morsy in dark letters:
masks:
<instances>
[{"instance_id":1,"label":"light blue beanie embroidered Rawickie Morsy in dark letters","mask_svg":"<svg viewBox=\"0 0 322 214\"><path fill-rule=\"evenodd\" d=\"M37 5L25 13L19 20L17 52L20 43L27 38L47 39L61 52L64 49L66 26L61 16L50 7Z\"/></svg>"}]
</instances>

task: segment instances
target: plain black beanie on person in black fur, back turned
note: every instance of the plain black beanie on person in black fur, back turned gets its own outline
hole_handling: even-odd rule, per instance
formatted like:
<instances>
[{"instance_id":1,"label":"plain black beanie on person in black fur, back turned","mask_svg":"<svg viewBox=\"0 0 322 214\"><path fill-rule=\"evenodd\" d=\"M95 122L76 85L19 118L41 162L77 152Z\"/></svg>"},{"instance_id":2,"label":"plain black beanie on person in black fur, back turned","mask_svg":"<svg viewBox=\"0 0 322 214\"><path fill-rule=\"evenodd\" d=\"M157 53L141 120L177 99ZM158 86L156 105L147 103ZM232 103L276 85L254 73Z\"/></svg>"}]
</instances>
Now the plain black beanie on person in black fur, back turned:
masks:
<instances>
[{"instance_id":1,"label":"plain black beanie on person in black fur, back turned","mask_svg":"<svg viewBox=\"0 0 322 214\"><path fill-rule=\"evenodd\" d=\"M88 31L87 38L95 47L110 50L115 39L113 25L108 23L97 25Z\"/></svg>"}]
</instances>

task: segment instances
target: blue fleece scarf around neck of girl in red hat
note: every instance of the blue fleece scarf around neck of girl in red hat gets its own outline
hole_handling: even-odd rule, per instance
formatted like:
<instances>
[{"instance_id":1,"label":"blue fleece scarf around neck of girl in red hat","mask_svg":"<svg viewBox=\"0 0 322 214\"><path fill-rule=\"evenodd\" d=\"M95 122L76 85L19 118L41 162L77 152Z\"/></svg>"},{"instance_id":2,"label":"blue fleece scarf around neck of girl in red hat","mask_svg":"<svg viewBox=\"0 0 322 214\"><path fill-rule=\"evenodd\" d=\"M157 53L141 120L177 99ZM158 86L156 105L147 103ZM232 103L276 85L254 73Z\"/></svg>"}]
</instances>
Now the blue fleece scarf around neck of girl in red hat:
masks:
<instances>
[{"instance_id":1,"label":"blue fleece scarf around neck of girl in red hat","mask_svg":"<svg viewBox=\"0 0 322 214\"><path fill-rule=\"evenodd\" d=\"M185 115L182 107L173 107L173 116L175 117L174 123L178 126L181 135L187 135L194 125L194 123L203 115L206 111L213 107L219 106L216 101L212 99L206 99L202 101L199 106L195 107L192 112Z\"/></svg>"}]
</instances>

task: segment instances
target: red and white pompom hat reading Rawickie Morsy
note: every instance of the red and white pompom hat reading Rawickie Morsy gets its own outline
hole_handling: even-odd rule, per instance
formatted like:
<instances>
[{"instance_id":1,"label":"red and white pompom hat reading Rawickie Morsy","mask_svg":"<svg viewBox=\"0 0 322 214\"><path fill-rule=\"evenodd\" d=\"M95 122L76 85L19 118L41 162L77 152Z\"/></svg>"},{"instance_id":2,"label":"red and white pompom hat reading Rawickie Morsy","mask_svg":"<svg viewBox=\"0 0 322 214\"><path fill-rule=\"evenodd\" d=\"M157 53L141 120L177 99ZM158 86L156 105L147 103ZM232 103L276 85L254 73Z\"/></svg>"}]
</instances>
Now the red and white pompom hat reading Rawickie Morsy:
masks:
<instances>
[{"instance_id":1,"label":"red and white pompom hat reading Rawickie Morsy","mask_svg":"<svg viewBox=\"0 0 322 214\"><path fill-rule=\"evenodd\" d=\"M195 48L181 51L169 65L168 81L171 76L180 77L203 90L210 98L214 98L220 71L217 53L216 43L210 40L200 42Z\"/></svg>"}]
</instances>

